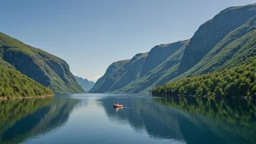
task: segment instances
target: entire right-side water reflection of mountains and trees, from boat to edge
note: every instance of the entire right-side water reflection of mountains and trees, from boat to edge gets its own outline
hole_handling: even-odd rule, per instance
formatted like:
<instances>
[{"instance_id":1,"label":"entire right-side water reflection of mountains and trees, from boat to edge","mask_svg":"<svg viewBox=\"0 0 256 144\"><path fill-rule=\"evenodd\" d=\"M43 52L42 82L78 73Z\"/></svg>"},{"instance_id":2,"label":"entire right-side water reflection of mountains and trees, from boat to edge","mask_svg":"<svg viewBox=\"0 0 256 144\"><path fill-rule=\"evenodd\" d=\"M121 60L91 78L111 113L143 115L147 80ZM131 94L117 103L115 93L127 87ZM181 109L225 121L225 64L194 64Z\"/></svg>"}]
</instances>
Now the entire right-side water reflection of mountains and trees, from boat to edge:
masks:
<instances>
[{"instance_id":1,"label":"entire right-side water reflection of mountains and trees, from boat to edge","mask_svg":"<svg viewBox=\"0 0 256 144\"><path fill-rule=\"evenodd\" d=\"M110 105L117 101L129 108L116 113ZM151 137L186 143L256 143L256 105L252 101L113 97L103 99L102 104L111 120L128 121Z\"/></svg>"}]
</instances>

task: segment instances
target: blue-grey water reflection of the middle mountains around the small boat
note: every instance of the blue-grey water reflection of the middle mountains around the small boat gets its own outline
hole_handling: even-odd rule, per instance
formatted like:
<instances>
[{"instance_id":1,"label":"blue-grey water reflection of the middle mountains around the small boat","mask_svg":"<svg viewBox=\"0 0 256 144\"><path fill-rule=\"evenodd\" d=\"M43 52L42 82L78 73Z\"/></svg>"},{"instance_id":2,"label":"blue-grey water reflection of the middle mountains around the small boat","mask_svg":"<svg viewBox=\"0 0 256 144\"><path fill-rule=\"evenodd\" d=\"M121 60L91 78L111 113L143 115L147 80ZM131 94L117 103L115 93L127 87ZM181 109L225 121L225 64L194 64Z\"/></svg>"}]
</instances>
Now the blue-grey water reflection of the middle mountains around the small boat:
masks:
<instances>
[{"instance_id":1,"label":"blue-grey water reflection of the middle mountains around the small boat","mask_svg":"<svg viewBox=\"0 0 256 144\"><path fill-rule=\"evenodd\" d=\"M117 113L116 110L110 106L116 102L124 104L125 106L123 110L119 110ZM112 120L118 119L121 122L128 121L138 132L140 132L141 129L145 129L152 137L183 140L183 136L180 135L180 130L177 127L177 116L172 114L172 111L167 111L163 106L152 103L150 99L118 99L116 97L108 97L103 99L102 103L106 113Z\"/></svg>"}]
</instances>

